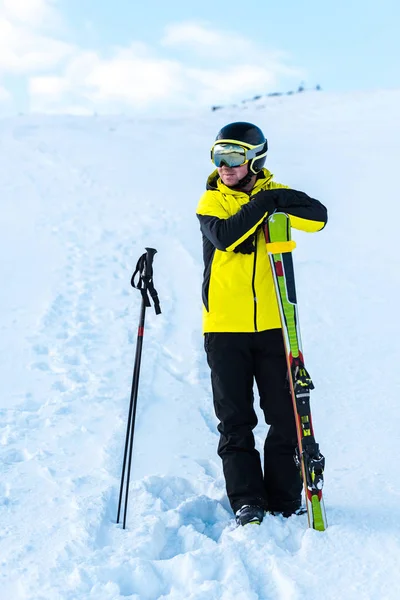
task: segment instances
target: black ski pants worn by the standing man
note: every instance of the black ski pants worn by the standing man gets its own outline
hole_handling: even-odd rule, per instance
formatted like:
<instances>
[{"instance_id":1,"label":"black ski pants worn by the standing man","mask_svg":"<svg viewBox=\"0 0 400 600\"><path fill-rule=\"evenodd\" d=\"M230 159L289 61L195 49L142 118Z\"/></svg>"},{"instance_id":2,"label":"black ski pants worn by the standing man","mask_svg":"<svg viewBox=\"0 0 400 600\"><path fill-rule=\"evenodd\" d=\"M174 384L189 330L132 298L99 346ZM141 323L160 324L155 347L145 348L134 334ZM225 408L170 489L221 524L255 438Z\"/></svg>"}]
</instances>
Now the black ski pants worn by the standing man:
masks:
<instances>
[{"instance_id":1,"label":"black ski pants worn by the standing man","mask_svg":"<svg viewBox=\"0 0 400 600\"><path fill-rule=\"evenodd\" d=\"M282 331L206 333L204 345L221 434L218 454L233 511L244 504L276 511L298 508L302 483L293 459L297 435ZM264 473L253 435L254 380L270 425Z\"/></svg>"}]
</instances>

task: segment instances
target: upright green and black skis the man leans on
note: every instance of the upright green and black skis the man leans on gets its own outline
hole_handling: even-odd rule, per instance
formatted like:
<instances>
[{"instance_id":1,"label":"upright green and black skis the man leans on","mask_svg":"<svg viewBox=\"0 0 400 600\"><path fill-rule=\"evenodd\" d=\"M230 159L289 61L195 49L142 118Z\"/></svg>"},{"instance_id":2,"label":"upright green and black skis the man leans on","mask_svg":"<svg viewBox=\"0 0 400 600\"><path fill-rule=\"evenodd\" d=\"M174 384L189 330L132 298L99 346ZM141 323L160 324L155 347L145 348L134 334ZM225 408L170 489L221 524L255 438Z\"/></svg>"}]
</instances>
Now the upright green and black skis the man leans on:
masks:
<instances>
[{"instance_id":1,"label":"upright green and black skis the man leans on","mask_svg":"<svg viewBox=\"0 0 400 600\"><path fill-rule=\"evenodd\" d=\"M286 213L273 213L264 224L267 251L281 316L298 446L294 460L303 479L308 524L324 531L327 527L322 498L325 458L315 441L311 419L310 391L314 384L304 366L292 251L290 220Z\"/></svg>"}]
</instances>

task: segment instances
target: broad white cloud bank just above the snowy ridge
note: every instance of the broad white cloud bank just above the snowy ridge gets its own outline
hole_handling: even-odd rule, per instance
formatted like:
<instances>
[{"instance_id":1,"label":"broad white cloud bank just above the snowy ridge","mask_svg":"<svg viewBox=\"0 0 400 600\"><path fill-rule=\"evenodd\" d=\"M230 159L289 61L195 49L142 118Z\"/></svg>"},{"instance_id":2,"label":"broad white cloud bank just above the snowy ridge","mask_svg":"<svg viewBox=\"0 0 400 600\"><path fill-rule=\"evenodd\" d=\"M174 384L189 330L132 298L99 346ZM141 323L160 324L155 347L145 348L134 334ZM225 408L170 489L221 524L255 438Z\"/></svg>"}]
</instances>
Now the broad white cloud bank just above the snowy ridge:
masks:
<instances>
[{"instance_id":1,"label":"broad white cloud bank just above the snowy ridge","mask_svg":"<svg viewBox=\"0 0 400 600\"><path fill-rule=\"evenodd\" d=\"M165 51L159 55L143 43L114 48L108 58L94 51L76 52L61 76L31 78L32 108L62 111L71 102L74 106L81 102L85 110L115 112L118 108L150 109L157 103L210 105L276 89L282 75L303 75L278 53L267 53L250 40L202 25L170 26L161 43L183 51L190 45L196 54L210 53L211 66L207 60L198 66L198 61L187 56L168 59ZM232 52L232 48L240 51Z\"/></svg>"}]
</instances>

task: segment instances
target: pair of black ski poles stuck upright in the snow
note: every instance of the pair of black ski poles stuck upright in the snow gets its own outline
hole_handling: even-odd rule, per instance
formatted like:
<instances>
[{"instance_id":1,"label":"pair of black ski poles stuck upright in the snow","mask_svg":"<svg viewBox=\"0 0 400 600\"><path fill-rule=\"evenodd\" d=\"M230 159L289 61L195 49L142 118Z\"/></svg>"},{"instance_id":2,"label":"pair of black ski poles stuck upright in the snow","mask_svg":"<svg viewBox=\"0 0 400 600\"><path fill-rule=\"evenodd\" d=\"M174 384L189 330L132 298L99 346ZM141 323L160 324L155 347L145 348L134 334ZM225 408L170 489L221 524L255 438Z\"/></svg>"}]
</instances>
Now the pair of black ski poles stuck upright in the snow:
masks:
<instances>
[{"instance_id":1,"label":"pair of black ski poles stuck upright in the snow","mask_svg":"<svg viewBox=\"0 0 400 600\"><path fill-rule=\"evenodd\" d=\"M119 491L119 501L118 501L118 514L117 514L117 523L120 521L121 516L121 507L122 507L122 497L124 491L124 483L125 483L125 474L126 474L126 483L125 483L125 503L124 503L124 519L123 519L123 529L126 526L126 514L128 509L128 496L129 496L129 480L131 474L131 465L132 465L132 451L133 451L133 438L135 432L135 421L136 421L136 408L137 408L137 396L139 389L139 374L140 374L140 365L142 358L142 348L143 348L143 336L144 336L144 323L146 316L146 308L151 306L149 294L154 303L154 309L156 315L161 313L160 302L158 299L157 291L154 287L153 283L153 259L157 250L154 248L146 248L146 253L142 254L139 258L135 272L131 278L132 287L140 290L142 294L142 304L140 309L140 318L139 318L139 327L138 327L138 335L136 341L136 353L135 353L135 364L133 368L133 377L132 377L132 388L131 388L131 397L129 403L129 413L128 413L128 423L126 427L126 438L125 438L125 449L124 449L124 458L122 463L122 474L121 474L121 486ZM136 280L137 278L137 280ZM128 459L128 468L126 469L126 461Z\"/></svg>"}]
</instances>

